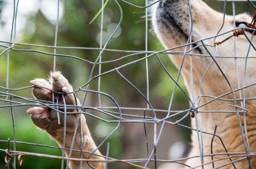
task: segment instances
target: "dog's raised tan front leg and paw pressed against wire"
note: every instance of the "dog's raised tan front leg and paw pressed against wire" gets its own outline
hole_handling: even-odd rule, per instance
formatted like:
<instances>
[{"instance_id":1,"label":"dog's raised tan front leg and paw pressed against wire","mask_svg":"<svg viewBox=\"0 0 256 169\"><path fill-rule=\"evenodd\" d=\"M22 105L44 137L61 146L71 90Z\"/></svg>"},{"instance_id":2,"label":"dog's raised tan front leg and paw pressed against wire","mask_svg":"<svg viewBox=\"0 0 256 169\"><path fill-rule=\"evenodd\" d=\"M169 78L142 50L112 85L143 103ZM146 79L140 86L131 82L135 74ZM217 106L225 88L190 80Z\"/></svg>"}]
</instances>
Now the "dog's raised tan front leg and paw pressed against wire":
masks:
<instances>
[{"instance_id":1,"label":"dog's raised tan front leg and paw pressed against wire","mask_svg":"<svg viewBox=\"0 0 256 169\"><path fill-rule=\"evenodd\" d=\"M60 147L65 146L67 149L71 149L74 133L75 140L73 143L72 152L70 150L65 150L66 157L78 158L80 159L80 150L85 152L82 153L83 159L88 159L90 152L96 150L97 146L91 137L91 133L86 124L86 119L83 114L66 114L66 112L77 112L77 108L68 108L68 106L80 106L80 101L73 95L73 88L68 83L68 80L60 72L52 72L49 81L45 79L34 79L30 81L34 86L33 95L36 99L41 101L52 101L53 100L53 90L56 92L62 92L63 94L54 94L55 101L59 101L62 104L62 112L57 112L51 108L45 107L35 107L27 110L28 114L31 115L31 119L35 126L45 130L48 135L50 135L55 141L59 144ZM64 111L63 106L66 105L66 112ZM59 115L58 115L59 113ZM65 115L66 114L66 115ZM59 118L58 118L59 116ZM58 119L60 120L58 122ZM66 119L66 137L64 140L64 127ZM80 122L80 123L79 123ZM77 126L81 125L81 130ZM82 135L82 137L81 137ZM82 140L80 139L82 138ZM65 142L65 144L64 144ZM70 156L71 155L71 156ZM104 168L105 164L104 158L101 157L100 151L96 150L95 155L91 155L89 159L100 160L101 162L93 161L89 162L94 168ZM80 161L70 161L70 168L89 168L87 161L83 161L80 166Z\"/></svg>"}]
</instances>

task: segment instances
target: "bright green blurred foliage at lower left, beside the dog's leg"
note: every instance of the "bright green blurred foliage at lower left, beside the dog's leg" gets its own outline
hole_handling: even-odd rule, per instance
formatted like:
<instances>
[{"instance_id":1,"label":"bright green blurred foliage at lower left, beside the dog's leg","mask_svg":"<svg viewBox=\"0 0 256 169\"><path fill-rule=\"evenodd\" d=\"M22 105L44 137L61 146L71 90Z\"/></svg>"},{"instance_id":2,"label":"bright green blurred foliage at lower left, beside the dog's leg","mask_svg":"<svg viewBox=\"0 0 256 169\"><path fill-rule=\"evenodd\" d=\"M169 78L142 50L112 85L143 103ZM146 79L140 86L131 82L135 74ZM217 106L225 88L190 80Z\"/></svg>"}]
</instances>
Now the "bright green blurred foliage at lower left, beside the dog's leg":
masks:
<instances>
[{"instance_id":1,"label":"bright green blurred foliage at lower left, beside the dog's leg","mask_svg":"<svg viewBox=\"0 0 256 169\"><path fill-rule=\"evenodd\" d=\"M16 108L15 108L16 109ZM14 115L15 119L15 132L16 132L16 140L23 141L28 143L39 143L48 146L55 146L57 144L53 139L50 139L46 132L42 132L39 129L35 128L32 121L30 121L29 116L26 115L24 108L17 108L18 110L14 110L16 113ZM13 138L13 127L12 127L12 117L10 115L10 110L1 109L1 118L0 118L0 128L1 130L1 139L2 140L14 140ZM50 154L50 155L62 155L61 150L43 148L38 146L30 146L23 143L16 144L16 150L24 151L24 152L37 152L42 154ZM1 149L8 149L8 143L0 143ZM10 148L13 150L13 143L10 143ZM6 153L0 152L0 168L3 168L4 163L3 159L6 156ZM37 161L37 162L33 162ZM47 163L45 162L47 161ZM18 163L18 161L17 161ZM44 159L42 157L30 157L26 156L24 159L24 163L22 166L17 165L17 168L58 168L60 166L60 160L55 159Z\"/></svg>"}]
</instances>

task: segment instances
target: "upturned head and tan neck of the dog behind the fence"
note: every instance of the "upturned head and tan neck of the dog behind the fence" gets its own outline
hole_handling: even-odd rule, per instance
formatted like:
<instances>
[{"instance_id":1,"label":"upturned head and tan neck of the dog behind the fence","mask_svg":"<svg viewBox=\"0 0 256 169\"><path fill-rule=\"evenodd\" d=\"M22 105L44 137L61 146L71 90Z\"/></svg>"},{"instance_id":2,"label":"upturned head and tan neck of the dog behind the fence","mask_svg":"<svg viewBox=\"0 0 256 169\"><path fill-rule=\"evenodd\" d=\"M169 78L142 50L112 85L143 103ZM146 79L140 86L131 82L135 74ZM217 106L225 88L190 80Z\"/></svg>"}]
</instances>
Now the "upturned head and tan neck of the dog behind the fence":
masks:
<instances>
[{"instance_id":1,"label":"upturned head and tan neck of the dog behind the fence","mask_svg":"<svg viewBox=\"0 0 256 169\"><path fill-rule=\"evenodd\" d=\"M256 168L255 154L250 154L256 151L256 101L250 99L256 96L256 54L246 39L253 35L246 32L246 37L214 45L252 17L238 14L234 20L226 15L223 20L223 13L201 0L161 0L152 20L163 46L181 52L169 56L181 68L192 100L191 126L201 131L192 131L190 158L185 163L191 168ZM214 39L218 32L223 35ZM189 42L192 54L182 54L190 50L185 47ZM256 39L251 43L255 45ZM233 154L228 157L227 152Z\"/></svg>"}]
</instances>

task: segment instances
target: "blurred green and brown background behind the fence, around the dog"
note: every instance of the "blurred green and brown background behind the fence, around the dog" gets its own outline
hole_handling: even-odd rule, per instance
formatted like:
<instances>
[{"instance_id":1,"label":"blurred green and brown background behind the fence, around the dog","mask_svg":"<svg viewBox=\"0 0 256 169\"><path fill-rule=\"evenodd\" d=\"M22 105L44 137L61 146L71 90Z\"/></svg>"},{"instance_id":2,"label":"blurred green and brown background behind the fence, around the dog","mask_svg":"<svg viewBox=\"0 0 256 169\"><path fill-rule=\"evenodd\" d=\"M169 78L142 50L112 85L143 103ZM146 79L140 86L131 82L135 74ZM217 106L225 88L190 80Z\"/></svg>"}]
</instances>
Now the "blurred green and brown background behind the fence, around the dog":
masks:
<instances>
[{"instance_id":1,"label":"blurred green and brown background behind the fence, around the dog","mask_svg":"<svg viewBox=\"0 0 256 169\"><path fill-rule=\"evenodd\" d=\"M137 6L145 6L145 1L129 1ZM118 1L122 7L122 23L120 28L107 45L107 49L126 50L126 51L144 51L145 50L145 8L136 8L122 1ZM223 1L206 1L212 8L223 11ZM89 24L91 19L100 10L102 5L101 1L87 0L66 0L60 1L60 23L57 32L57 46L63 47L85 47L79 48L57 48L57 54L66 54L75 56L77 58L86 59L94 62L100 53L100 17L96 19L92 24ZM236 11L248 12L253 14L254 9L248 2L236 2ZM1 17L1 31L0 41L1 46L8 46L8 43L4 41L10 41L10 31L12 26L12 12L13 2L0 1L0 17ZM232 14L232 3L227 3L227 13ZM0 86L6 87L7 79L9 88L22 88L30 86L29 81L36 77L48 78L48 73L53 70L53 55L42 54L35 51L42 51L53 53L53 48L44 48L42 46L54 46L55 41L55 23L57 14L57 1L56 0L37 0L37 1L19 1L19 8L17 12L17 33L15 42L17 43L30 43L38 44L40 46L27 46L24 44L15 44L16 50L10 50L9 64L7 52L0 56ZM109 1L107 7L104 8L103 19L103 34L102 43L107 41L113 29L116 28L117 23L120 20L120 10L114 1ZM148 22L148 41L147 46L149 51L163 50L163 47L159 43L158 39L152 30L150 23L150 9L149 9L149 22ZM1 47L3 51L5 48ZM19 51L22 50L22 51ZM24 51L30 50L30 51ZM34 52L31 52L34 51ZM114 59L120 59L121 57L131 54L131 52L116 52L107 50L102 54L102 61L111 61ZM119 61L113 61L110 63L102 64L102 72L112 70L118 66L123 66L126 63L135 61L145 57L145 54L136 54ZM167 67L167 70L176 78L177 70L172 65L167 54L160 54L160 57ZM174 83L165 73L156 57L150 57L149 63L149 100L152 106L156 109L167 110ZM7 66L8 65L8 66ZM89 79L92 64L82 61L80 59L74 59L72 57L57 57L56 69L63 72L64 76L71 82L74 89L80 88ZM98 74L99 66L95 67L93 75ZM7 78L8 72L8 78ZM146 63L145 60L138 61L129 66L125 66L120 69L120 72L125 75L129 81L146 95ZM141 97L141 95L134 90L129 84L124 81L116 72L111 72L101 77L102 92L106 92L111 95L118 102L121 107L129 108L147 108L147 103ZM179 80L179 83L184 88L183 79ZM0 88L0 149L5 150L8 148L6 142L8 138L14 139L14 132L12 127L12 115L10 102L6 101L6 97L3 94L6 92L3 88ZM98 79L91 82L90 90L98 90ZM21 97L33 98L31 95L31 89L22 90L10 90L9 93L18 95ZM84 92L78 92L77 97L83 99ZM88 99L89 98L89 99ZM10 98L9 98L10 100ZM24 99L13 98L13 101L20 101L22 103L28 103ZM6 106L6 107L5 107ZM89 94L86 99L86 106L99 106L98 95ZM114 106L113 101L107 97L102 97L102 106ZM48 146L57 146L55 141L50 139L45 132L41 132L30 121L29 115L26 115L26 110L31 106L17 106L13 107L15 119L15 132L17 141L24 141L28 143L39 143ZM174 95L174 101L172 104L172 110L185 110L189 107L188 99L183 95L181 90L176 90ZM143 115L143 112L131 112L124 111L130 115ZM93 115L107 120L112 118L103 115L99 112L90 112ZM150 113L147 113L148 116ZM158 115L159 118L164 117L164 113ZM176 121L181 118L175 117L170 121ZM95 119L93 117L86 116L89 123L89 128L95 138L96 143L100 143L114 128L117 123L106 123ZM190 119L187 118L183 121L183 124L189 125ZM146 125L149 129L149 139L152 139L152 128L150 124ZM159 126L158 126L159 128ZM172 135L176 135L175 138L162 139L160 143L163 143L163 148L159 148L158 157L165 157L167 154L167 146L172 143L185 140L189 141L190 131L176 126L167 126L168 130L165 130L165 136L170 136L169 130L172 130ZM175 133L175 134L174 134ZM143 139L143 141L141 140ZM109 156L116 159L136 159L146 158L146 146L145 136L142 123L122 123L118 130L111 135L107 142L110 144ZM150 141L149 141L150 142ZM140 143L140 144L139 144ZM136 144L140 146L136 146ZM189 144L189 143L188 143ZM143 148L141 147L143 146ZM11 149L13 144L11 143ZM152 148L152 144L149 144ZM165 149L164 149L165 148ZM17 143L17 150L26 152L37 152L47 155L61 155L61 150L52 148L42 148L38 146L31 146L22 143ZM100 148L103 155L105 155L107 149L107 143L104 143ZM135 150L135 151L134 151ZM165 150L165 151L163 151ZM143 155L141 155L143 154ZM0 151L0 168L6 168L4 157L6 153ZM56 159L48 159L43 157L29 157L26 156L22 166L17 165L17 168L60 168L61 161ZM122 166L120 163L111 163L109 168L129 168L129 166Z\"/></svg>"}]
</instances>

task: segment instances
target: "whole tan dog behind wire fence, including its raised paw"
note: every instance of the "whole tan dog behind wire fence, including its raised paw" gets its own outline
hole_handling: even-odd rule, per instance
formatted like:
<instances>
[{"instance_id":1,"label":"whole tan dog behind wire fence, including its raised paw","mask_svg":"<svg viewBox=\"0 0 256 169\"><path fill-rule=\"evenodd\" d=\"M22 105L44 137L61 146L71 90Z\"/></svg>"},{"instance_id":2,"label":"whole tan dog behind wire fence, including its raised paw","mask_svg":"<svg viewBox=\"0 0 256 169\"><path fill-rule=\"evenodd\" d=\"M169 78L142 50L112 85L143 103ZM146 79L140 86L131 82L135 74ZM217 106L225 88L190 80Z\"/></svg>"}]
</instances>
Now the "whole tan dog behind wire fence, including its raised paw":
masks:
<instances>
[{"instance_id":1,"label":"whole tan dog behind wire fence, including its raised paw","mask_svg":"<svg viewBox=\"0 0 256 169\"><path fill-rule=\"evenodd\" d=\"M256 151L256 101L253 99L256 96L253 85L256 82L256 66L253 62L255 50L251 48L247 54L250 44L244 36L235 38L236 50L232 39L214 46L214 40L210 37L220 30L223 14L212 10L201 0L191 0L190 3L185 0L159 1L153 13L154 30L166 49L182 53L190 49L184 46L190 37L193 42L193 54L170 54L174 65L177 68L182 66L185 86L193 101L192 128L202 132L202 135L201 132L192 132L192 150L189 155L192 158L185 163L191 168L256 168L255 154L250 153ZM228 32L234 29L235 24L238 26L251 19L247 14L237 15L235 21L233 17L226 16L220 33ZM250 33L246 35L251 36ZM216 41L226 37L228 33L217 37ZM253 39L252 43L255 44L256 40ZM176 46L179 48L174 48ZM73 88L68 80L60 72L51 72L48 81L34 79L30 83L36 99L45 103L54 100L55 103L58 101L62 104L60 108L37 106L27 112L35 126L46 131L61 148L65 148L66 157L71 158L69 167L105 168L105 159L91 137L86 119L83 114L78 113L82 112L79 108L80 101L73 95ZM73 107L66 108L65 105ZM68 113L65 115L63 112ZM77 127L77 121L80 122L81 130ZM225 148L227 152L237 154L230 154L228 157ZM82 159L91 161L79 161L81 149L84 150Z\"/></svg>"}]
</instances>

